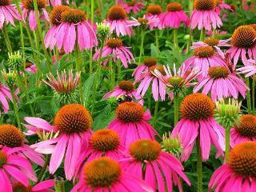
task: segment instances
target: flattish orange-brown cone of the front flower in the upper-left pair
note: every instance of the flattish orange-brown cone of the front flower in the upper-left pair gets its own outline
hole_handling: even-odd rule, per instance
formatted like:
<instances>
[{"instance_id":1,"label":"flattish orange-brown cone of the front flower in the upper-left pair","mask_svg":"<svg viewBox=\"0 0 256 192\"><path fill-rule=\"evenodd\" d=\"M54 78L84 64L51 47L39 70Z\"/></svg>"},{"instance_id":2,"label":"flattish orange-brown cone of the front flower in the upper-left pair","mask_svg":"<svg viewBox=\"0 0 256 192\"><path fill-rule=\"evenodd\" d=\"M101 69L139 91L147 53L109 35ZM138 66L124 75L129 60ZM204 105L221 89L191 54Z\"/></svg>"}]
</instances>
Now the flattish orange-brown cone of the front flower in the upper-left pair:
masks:
<instances>
[{"instance_id":1,"label":"flattish orange-brown cone of the front flower in the upper-left pair","mask_svg":"<svg viewBox=\"0 0 256 192\"><path fill-rule=\"evenodd\" d=\"M61 14L62 22L78 23L86 20L86 13L82 10L65 10Z\"/></svg>"}]
</instances>

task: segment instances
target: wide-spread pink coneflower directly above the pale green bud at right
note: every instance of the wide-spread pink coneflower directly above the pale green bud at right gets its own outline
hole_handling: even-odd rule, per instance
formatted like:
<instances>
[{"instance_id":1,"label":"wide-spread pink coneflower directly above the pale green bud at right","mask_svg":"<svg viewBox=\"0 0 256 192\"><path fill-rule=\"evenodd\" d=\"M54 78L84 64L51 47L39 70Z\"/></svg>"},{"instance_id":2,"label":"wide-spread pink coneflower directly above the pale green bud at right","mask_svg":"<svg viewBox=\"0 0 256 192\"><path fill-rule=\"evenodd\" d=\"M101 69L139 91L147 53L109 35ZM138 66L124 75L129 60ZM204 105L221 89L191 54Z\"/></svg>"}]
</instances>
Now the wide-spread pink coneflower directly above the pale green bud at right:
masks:
<instances>
[{"instance_id":1,"label":"wide-spread pink coneflower directly above the pale green bud at right","mask_svg":"<svg viewBox=\"0 0 256 192\"><path fill-rule=\"evenodd\" d=\"M202 89L203 88L203 89ZM222 98L238 98L239 93L246 97L246 90L249 88L241 78L231 73L226 66L210 67L208 75L202 78L198 85L194 87L194 93L202 89L202 94L210 92L213 100Z\"/></svg>"}]
</instances>

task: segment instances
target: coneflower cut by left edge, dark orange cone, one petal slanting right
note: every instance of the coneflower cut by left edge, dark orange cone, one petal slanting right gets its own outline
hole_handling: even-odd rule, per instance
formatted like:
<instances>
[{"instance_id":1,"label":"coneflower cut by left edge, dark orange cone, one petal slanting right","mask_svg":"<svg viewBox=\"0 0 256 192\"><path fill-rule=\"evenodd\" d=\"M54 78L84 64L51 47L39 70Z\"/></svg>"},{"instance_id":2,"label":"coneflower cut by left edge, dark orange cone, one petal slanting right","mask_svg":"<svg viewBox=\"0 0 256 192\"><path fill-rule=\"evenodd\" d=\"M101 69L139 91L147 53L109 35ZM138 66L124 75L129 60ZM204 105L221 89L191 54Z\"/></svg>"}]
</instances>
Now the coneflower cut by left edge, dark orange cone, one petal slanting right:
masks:
<instances>
[{"instance_id":1,"label":"coneflower cut by left edge, dark orange cone, one petal slanting right","mask_svg":"<svg viewBox=\"0 0 256 192\"><path fill-rule=\"evenodd\" d=\"M0 146L6 146L16 150L18 156L27 158L39 166L44 165L44 158L42 154L34 151L26 144L26 138L21 130L12 125L0 125Z\"/></svg>"}]
</instances>

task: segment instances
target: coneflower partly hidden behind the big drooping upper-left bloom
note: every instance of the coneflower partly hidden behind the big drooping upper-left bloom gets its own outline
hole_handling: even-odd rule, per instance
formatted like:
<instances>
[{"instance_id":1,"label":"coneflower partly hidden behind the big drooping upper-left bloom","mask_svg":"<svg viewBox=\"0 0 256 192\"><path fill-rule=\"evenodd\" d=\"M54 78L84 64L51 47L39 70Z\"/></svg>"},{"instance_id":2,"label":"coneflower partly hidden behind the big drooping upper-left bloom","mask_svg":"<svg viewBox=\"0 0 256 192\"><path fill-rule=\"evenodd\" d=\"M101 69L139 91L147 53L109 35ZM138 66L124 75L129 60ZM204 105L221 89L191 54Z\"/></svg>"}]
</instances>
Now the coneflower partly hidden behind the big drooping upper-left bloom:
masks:
<instances>
[{"instance_id":1,"label":"coneflower partly hidden behind the big drooping upper-left bloom","mask_svg":"<svg viewBox=\"0 0 256 192\"><path fill-rule=\"evenodd\" d=\"M54 9L50 13L50 29L46 33L46 37L44 39L46 49L50 48L50 50L54 49L57 43L57 33L58 26L62 23L62 13L65 10L70 10L69 6L54 6Z\"/></svg>"}]
</instances>

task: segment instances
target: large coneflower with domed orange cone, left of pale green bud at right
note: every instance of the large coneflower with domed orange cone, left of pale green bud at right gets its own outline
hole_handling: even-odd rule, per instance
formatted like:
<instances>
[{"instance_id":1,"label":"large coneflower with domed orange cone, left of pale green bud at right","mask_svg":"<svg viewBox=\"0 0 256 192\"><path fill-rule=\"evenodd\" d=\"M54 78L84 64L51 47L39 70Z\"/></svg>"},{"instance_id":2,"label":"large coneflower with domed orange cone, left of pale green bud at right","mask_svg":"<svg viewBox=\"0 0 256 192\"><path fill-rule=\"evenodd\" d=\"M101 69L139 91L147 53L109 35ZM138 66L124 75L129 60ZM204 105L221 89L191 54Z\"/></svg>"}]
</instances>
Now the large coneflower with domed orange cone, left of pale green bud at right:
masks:
<instances>
[{"instance_id":1,"label":"large coneflower with domed orange cone, left of pale green bud at right","mask_svg":"<svg viewBox=\"0 0 256 192\"><path fill-rule=\"evenodd\" d=\"M202 161L210 155L210 146L217 149L217 156L225 149L225 130L214 120L214 102L206 94L189 94L180 106L182 119L174 127L172 136L179 134L182 140L182 161L187 161L194 147L195 140L200 138Z\"/></svg>"}]
</instances>

